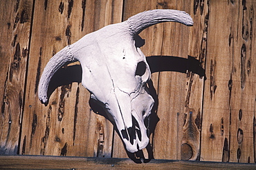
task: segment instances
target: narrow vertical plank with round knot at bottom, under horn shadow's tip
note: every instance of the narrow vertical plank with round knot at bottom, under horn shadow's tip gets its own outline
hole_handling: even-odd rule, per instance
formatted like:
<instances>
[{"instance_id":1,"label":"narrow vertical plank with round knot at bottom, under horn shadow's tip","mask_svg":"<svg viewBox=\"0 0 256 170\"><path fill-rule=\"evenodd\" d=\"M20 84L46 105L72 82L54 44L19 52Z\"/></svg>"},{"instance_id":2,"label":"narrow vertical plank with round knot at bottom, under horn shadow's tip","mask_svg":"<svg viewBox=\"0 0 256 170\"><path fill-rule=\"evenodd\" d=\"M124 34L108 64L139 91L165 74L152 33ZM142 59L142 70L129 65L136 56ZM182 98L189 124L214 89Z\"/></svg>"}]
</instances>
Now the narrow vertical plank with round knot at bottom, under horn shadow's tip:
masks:
<instances>
[{"instance_id":1,"label":"narrow vertical plank with round knot at bottom, under horn shadow's tip","mask_svg":"<svg viewBox=\"0 0 256 170\"><path fill-rule=\"evenodd\" d=\"M207 1L194 1L190 8L194 25L190 28L189 55L198 61L197 63L188 62L188 65L193 67L193 72L188 72L186 81L185 120L181 146L181 159L183 160L199 160L200 157L203 86L206 77L203 76L203 70L199 71L199 65L205 69L208 40L208 5ZM196 74L195 70L199 72Z\"/></svg>"}]
</instances>

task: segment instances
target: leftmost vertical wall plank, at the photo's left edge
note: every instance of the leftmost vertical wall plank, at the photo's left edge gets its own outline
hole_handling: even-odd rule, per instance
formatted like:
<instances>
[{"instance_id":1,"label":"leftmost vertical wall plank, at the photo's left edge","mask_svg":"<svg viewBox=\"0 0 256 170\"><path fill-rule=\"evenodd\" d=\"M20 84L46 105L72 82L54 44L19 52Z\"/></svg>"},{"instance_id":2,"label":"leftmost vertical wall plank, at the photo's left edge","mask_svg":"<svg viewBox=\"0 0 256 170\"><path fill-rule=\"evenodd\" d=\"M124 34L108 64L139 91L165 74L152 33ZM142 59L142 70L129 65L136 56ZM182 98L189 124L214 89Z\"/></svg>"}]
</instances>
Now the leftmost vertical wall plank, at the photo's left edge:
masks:
<instances>
[{"instance_id":1,"label":"leftmost vertical wall plank, at the photo's left edge","mask_svg":"<svg viewBox=\"0 0 256 170\"><path fill-rule=\"evenodd\" d=\"M33 1L1 1L0 154L18 153Z\"/></svg>"}]
</instances>

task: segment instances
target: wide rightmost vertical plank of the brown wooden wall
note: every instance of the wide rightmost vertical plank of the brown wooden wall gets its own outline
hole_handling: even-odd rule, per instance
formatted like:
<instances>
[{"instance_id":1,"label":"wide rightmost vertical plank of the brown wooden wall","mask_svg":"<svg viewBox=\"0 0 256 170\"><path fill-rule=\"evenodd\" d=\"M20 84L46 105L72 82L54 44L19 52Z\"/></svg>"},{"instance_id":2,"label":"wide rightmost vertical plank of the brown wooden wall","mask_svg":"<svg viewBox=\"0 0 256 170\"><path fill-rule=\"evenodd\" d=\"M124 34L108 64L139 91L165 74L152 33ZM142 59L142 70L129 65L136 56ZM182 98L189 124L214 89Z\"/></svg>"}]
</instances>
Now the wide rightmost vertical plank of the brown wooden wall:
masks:
<instances>
[{"instance_id":1,"label":"wide rightmost vertical plank of the brown wooden wall","mask_svg":"<svg viewBox=\"0 0 256 170\"><path fill-rule=\"evenodd\" d=\"M206 63L210 79L205 81L201 160L255 161L249 149L253 147L255 104L255 74L250 72L254 40L246 38L246 30L253 34L253 4L210 3Z\"/></svg>"}]
</instances>

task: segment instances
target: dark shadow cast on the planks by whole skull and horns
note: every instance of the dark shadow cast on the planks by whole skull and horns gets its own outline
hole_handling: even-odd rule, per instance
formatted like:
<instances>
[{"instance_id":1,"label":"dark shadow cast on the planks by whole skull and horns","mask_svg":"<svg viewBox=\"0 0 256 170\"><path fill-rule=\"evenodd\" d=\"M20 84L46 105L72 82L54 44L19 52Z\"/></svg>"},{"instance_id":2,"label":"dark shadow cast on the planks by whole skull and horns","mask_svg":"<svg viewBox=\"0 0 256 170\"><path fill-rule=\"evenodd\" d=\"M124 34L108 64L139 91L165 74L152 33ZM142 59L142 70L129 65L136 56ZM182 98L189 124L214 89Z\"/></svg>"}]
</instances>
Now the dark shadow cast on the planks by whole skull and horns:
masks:
<instances>
[{"instance_id":1,"label":"dark shadow cast on the planks by whole skull and horns","mask_svg":"<svg viewBox=\"0 0 256 170\"><path fill-rule=\"evenodd\" d=\"M140 46L140 45L138 45ZM141 45L142 46L142 45ZM149 64L150 70L152 73L154 72L181 72L187 73L192 72L194 74L198 74L201 78L205 77L205 70L201 66L201 62L195 59L192 56L188 56L188 59L177 57L177 56L147 56L147 63ZM64 66L61 69L57 70L54 74L53 78L51 78L51 82L48 87L48 98L51 94L55 91L57 87L62 85L69 85L73 82L81 83L82 81L82 67L81 65L71 65L71 66ZM147 82L147 87L149 94L154 98L154 107L152 108L151 114L145 118L145 127L147 128L147 136L151 136L154 133L156 128L156 124L160 120L157 116L157 109L158 109L158 96L156 94L156 89L153 86L152 80ZM116 124L113 120L107 116L106 112L102 107L98 105L98 103L94 102L93 99L90 98L89 105L91 109L108 120L116 129ZM120 136L120 134L118 133ZM121 137L121 136L120 136ZM124 145L125 146L125 145ZM154 153L152 144L148 144L146 147L148 156L145 158L144 153L142 150L136 151L135 153L131 153L126 150L127 156L136 163L149 162L150 160L154 159Z\"/></svg>"}]
</instances>

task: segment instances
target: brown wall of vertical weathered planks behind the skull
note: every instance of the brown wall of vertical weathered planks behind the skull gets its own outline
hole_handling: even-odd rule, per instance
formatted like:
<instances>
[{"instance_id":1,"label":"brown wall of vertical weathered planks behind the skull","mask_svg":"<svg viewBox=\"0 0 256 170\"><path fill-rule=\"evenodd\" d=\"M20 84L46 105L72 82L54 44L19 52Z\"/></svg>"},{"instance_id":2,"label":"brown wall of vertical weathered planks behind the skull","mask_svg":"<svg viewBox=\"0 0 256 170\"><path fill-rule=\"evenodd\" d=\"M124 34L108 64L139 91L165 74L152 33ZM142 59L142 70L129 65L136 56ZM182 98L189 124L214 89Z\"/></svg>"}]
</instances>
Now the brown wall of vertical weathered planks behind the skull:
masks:
<instances>
[{"instance_id":1,"label":"brown wall of vertical weathered planks behind the skull","mask_svg":"<svg viewBox=\"0 0 256 170\"><path fill-rule=\"evenodd\" d=\"M1 0L0 154L127 158L113 125L89 107L81 83L37 98L40 75L63 47L150 9L190 13L193 27L161 23L140 33L145 56L194 56L205 77L152 74L160 118L154 158L256 160L255 0Z\"/></svg>"}]
</instances>

